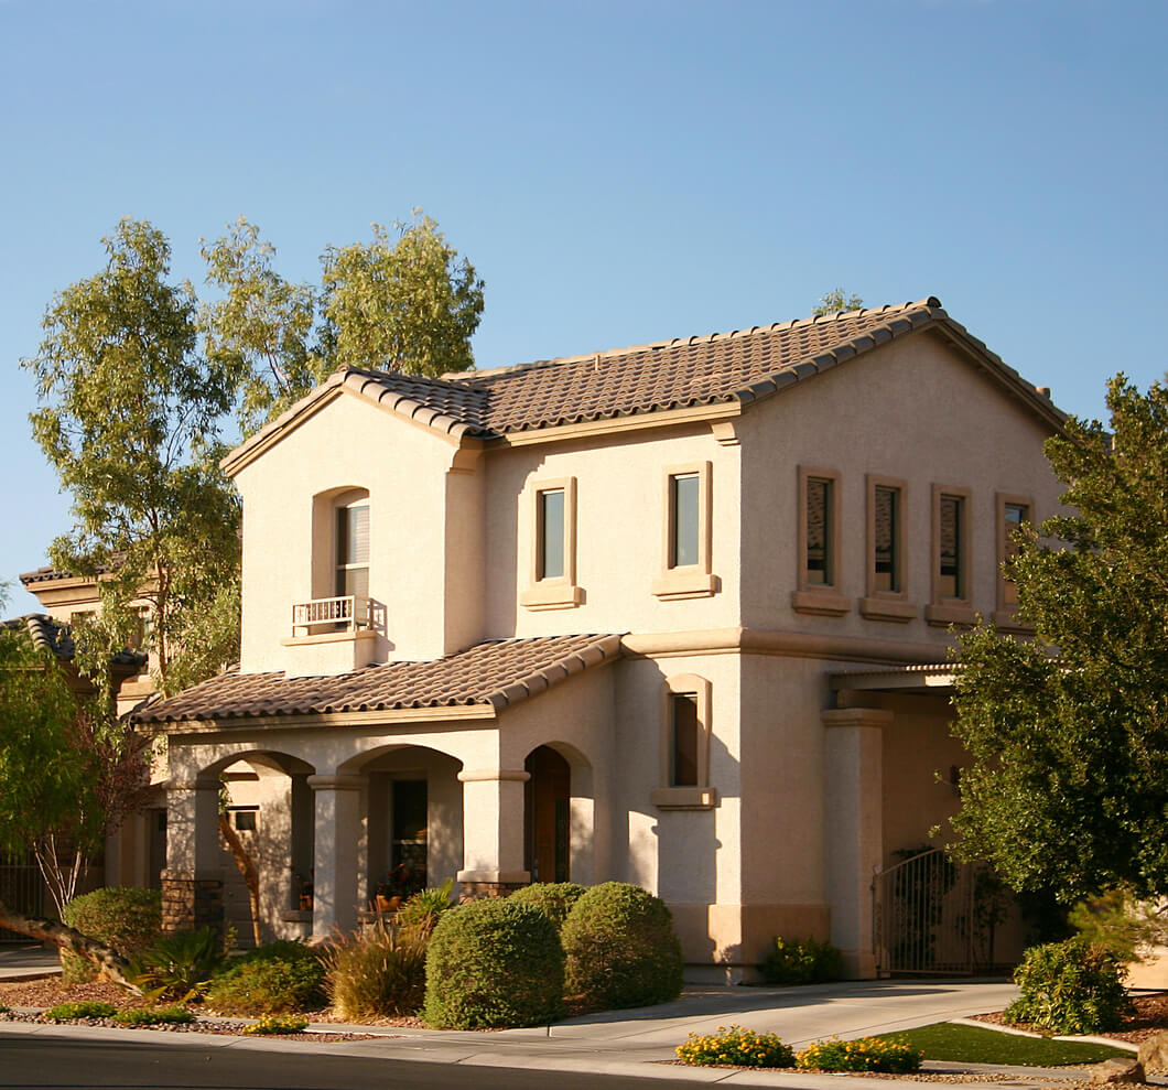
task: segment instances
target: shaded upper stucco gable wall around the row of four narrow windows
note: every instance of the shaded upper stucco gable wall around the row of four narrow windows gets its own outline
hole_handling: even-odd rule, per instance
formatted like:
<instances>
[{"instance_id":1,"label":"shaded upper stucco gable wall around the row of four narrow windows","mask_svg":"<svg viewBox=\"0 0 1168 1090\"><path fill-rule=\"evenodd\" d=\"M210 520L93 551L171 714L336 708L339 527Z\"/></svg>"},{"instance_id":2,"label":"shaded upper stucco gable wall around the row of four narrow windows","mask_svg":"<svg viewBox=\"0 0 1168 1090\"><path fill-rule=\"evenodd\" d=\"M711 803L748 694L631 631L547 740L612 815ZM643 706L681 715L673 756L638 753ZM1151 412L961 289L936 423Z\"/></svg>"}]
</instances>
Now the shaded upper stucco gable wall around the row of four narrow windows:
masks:
<instances>
[{"instance_id":1,"label":"shaded upper stucco gable wall around the row of four narrow windows","mask_svg":"<svg viewBox=\"0 0 1168 1090\"><path fill-rule=\"evenodd\" d=\"M933 643L932 495L936 482L972 490L972 604L986 617L997 602L995 492L1033 495L1034 518L1055 513L1062 492L1042 452L1049 430L985 372L931 334L904 338L748 409L743 436L743 623ZM842 617L792 610L798 585L798 467L841 475L837 591ZM906 481L904 535L908 624L865 619L867 485L874 473ZM940 652L939 652L940 655Z\"/></svg>"}]
</instances>

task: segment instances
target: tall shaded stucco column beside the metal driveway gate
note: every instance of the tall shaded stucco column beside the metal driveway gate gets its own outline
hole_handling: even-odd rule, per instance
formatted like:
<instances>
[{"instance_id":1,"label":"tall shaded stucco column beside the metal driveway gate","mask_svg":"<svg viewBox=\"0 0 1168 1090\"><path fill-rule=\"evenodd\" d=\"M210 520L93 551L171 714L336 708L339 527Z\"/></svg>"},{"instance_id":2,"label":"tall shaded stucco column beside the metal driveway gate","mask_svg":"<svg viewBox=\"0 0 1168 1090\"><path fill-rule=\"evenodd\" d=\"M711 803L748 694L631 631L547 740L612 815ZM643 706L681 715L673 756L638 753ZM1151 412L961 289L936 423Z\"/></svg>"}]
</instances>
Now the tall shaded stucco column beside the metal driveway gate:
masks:
<instances>
[{"instance_id":1,"label":"tall shaded stucco column beside the metal driveway gate","mask_svg":"<svg viewBox=\"0 0 1168 1090\"><path fill-rule=\"evenodd\" d=\"M884 771L881 731L892 713L841 708L821 713L827 728L827 901L832 942L849 973L876 976L872 874L884 860Z\"/></svg>"}]
</instances>

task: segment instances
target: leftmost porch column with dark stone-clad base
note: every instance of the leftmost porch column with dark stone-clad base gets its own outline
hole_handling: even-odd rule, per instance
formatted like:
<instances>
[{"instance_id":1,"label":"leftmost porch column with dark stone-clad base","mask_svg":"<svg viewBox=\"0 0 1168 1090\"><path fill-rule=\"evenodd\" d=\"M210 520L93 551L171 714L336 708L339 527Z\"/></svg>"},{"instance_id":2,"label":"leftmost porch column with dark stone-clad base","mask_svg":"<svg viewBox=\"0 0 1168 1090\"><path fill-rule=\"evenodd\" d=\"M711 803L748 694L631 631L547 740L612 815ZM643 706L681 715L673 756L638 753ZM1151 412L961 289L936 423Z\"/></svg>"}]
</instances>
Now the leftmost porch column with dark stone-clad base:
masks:
<instances>
[{"instance_id":1,"label":"leftmost porch column with dark stone-clad base","mask_svg":"<svg viewBox=\"0 0 1168 1090\"><path fill-rule=\"evenodd\" d=\"M166 869L162 929L181 931L223 923L218 854L217 779L172 782L166 791Z\"/></svg>"}]
</instances>

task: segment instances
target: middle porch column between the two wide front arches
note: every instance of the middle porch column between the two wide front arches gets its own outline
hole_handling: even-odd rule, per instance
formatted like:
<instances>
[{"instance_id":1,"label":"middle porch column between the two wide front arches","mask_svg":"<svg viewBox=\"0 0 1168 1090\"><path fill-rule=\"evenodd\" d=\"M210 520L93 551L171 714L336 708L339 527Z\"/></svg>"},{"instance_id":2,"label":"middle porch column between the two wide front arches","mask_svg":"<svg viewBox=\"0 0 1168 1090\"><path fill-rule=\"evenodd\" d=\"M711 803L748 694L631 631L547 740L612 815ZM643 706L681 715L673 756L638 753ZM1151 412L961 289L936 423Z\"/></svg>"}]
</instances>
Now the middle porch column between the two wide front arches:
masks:
<instances>
[{"instance_id":1,"label":"middle porch column between the two wide front arches","mask_svg":"<svg viewBox=\"0 0 1168 1090\"><path fill-rule=\"evenodd\" d=\"M366 776L310 776L315 811L312 933L352 931L357 923L357 846Z\"/></svg>"}]
</instances>

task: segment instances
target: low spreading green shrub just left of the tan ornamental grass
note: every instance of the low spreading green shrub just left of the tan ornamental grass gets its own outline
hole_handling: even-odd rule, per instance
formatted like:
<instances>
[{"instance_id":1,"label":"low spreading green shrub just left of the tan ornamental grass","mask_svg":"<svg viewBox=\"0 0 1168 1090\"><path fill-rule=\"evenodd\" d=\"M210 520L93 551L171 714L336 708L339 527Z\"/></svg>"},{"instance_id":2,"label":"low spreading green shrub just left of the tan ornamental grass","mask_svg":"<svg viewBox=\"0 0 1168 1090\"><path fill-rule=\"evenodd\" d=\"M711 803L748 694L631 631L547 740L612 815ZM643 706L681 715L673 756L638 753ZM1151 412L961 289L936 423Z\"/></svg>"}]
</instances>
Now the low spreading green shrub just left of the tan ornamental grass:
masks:
<instances>
[{"instance_id":1,"label":"low spreading green shrub just left of the tan ornamental grass","mask_svg":"<svg viewBox=\"0 0 1168 1090\"><path fill-rule=\"evenodd\" d=\"M325 1002L325 966L303 943L267 943L216 973L204 1001L222 1014L315 1009Z\"/></svg>"}]
</instances>

